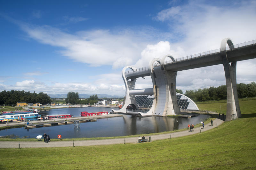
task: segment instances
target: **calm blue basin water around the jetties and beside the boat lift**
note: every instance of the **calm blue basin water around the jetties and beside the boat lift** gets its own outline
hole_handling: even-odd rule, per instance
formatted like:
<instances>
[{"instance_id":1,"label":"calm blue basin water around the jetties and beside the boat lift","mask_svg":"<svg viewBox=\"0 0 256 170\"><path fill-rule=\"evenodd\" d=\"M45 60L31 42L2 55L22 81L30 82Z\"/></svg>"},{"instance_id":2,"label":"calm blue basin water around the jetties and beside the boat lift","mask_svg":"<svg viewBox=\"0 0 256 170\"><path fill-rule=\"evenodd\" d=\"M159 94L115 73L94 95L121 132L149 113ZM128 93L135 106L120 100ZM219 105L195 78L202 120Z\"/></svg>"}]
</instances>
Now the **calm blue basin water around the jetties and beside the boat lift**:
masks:
<instances>
[{"instance_id":1,"label":"calm blue basin water around the jetties and beside the boat lift","mask_svg":"<svg viewBox=\"0 0 256 170\"><path fill-rule=\"evenodd\" d=\"M46 114L71 114L73 117L80 117L80 112L100 112L111 111L116 108L104 107L87 107L87 108L63 108L52 109L45 112L39 112L41 116ZM96 122L81 123L79 127L74 124L56 125L49 127L39 127L33 129L13 128L0 131L0 136L12 135L19 138L36 138L37 135L46 133L50 138L57 138L60 134L61 138L93 138L93 137L113 137L157 133L164 131L173 131L188 127L188 124L198 124L206 120L208 115L199 115L191 118L174 117L135 117L123 115L123 117L111 117L97 119Z\"/></svg>"}]
</instances>

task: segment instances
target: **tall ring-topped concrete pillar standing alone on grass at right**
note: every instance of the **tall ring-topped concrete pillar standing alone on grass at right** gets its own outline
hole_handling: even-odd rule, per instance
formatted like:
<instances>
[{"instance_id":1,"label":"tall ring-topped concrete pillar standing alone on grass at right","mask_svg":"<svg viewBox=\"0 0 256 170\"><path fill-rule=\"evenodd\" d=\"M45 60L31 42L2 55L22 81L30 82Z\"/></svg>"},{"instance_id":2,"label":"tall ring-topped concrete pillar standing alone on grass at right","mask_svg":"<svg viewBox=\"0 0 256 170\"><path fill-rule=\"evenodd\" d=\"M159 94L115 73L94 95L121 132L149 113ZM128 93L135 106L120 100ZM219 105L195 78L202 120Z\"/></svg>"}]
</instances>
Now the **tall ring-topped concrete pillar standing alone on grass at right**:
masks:
<instances>
[{"instance_id":1,"label":"tall ring-topped concrete pillar standing alone on grass at right","mask_svg":"<svg viewBox=\"0 0 256 170\"><path fill-rule=\"evenodd\" d=\"M234 48L231 39L226 38L221 41L221 59L223 61L223 67L225 71L226 84L227 84L227 113L226 121L231 121L238 117L241 117L241 111L238 102L237 88L236 88L236 62L232 62L231 65L228 62L226 54L226 44L229 48Z\"/></svg>"}]
</instances>

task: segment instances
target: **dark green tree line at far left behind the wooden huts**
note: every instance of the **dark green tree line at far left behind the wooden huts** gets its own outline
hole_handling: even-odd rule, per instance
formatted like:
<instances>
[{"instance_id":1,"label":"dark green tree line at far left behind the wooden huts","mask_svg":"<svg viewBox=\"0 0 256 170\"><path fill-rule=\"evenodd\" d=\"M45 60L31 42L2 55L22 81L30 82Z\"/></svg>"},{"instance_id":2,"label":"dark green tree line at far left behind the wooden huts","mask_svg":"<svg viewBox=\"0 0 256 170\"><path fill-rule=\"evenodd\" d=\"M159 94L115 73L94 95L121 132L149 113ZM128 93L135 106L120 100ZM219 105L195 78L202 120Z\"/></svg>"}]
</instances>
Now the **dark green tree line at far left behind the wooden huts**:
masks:
<instances>
[{"instance_id":1,"label":"dark green tree line at far left behind the wooden huts","mask_svg":"<svg viewBox=\"0 0 256 170\"><path fill-rule=\"evenodd\" d=\"M0 105L2 104L16 105L17 102L47 104L47 103L51 103L52 99L46 93L43 93L43 92L40 92L38 94L35 91L33 93L30 93L29 91L26 92L24 90L22 91L4 90L0 92Z\"/></svg>"}]
</instances>

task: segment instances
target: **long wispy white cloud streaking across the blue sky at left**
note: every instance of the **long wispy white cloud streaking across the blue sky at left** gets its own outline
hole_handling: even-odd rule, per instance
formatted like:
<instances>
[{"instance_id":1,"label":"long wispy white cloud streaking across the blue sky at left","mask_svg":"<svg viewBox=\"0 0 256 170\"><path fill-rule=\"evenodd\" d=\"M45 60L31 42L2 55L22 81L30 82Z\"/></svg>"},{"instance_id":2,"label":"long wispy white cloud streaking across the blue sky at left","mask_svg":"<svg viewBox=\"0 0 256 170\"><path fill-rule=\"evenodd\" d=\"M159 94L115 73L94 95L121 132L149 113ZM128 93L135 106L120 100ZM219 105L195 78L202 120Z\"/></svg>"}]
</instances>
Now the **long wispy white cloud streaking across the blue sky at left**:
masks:
<instances>
[{"instance_id":1,"label":"long wispy white cloud streaking across the blue sky at left","mask_svg":"<svg viewBox=\"0 0 256 170\"><path fill-rule=\"evenodd\" d=\"M112 65L122 68L136 61L145 46L132 32L114 34L109 30L93 30L68 34L48 25L19 25L30 38L43 44L63 47L64 50L59 51L63 56L90 66Z\"/></svg>"}]
</instances>

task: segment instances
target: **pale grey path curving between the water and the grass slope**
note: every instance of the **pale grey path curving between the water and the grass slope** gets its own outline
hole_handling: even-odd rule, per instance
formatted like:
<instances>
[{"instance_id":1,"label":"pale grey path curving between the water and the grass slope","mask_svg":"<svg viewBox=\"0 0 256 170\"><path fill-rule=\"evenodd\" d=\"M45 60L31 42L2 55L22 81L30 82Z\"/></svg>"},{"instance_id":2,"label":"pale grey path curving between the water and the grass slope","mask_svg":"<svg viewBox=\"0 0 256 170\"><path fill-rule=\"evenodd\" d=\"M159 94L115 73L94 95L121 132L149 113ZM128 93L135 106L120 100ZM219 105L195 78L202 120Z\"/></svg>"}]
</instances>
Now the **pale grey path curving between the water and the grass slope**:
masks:
<instances>
[{"instance_id":1,"label":"pale grey path curving between the water and the grass slope","mask_svg":"<svg viewBox=\"0 0 256 170\"><path fill-rule=\"evenodd\" d=\"M190 132L189 130L179 131L171 133L171 138L177 138L181 136L192 135L195 133L200 133L200 129L202 132L216 128L222 124L224 121L221 119L216 118L213 121L213 126L210 126L211 123L205 124L204 129L202 127L194 128L194 132ZM150 135L152 141L154 140L161 140L170 138L170 133L161 134L161 135ZM148 136L146 136L148 138ZM125 138L125 143L137 143L138 137L131 137ZM35 142L26 142L26 141L0 141L0 148L18 148L20 143L21 148L42 148L42 147L67 147L73 146L73 141L51 141L49 143L44 143L42 141L35 141ZM113 145L113 144L123 144L124 138L116 138L116 139L102 139L102 140L75 140L74 146L90 146L90 145Z\"/></svg>"}]
</instances>

